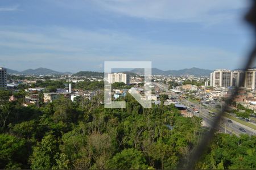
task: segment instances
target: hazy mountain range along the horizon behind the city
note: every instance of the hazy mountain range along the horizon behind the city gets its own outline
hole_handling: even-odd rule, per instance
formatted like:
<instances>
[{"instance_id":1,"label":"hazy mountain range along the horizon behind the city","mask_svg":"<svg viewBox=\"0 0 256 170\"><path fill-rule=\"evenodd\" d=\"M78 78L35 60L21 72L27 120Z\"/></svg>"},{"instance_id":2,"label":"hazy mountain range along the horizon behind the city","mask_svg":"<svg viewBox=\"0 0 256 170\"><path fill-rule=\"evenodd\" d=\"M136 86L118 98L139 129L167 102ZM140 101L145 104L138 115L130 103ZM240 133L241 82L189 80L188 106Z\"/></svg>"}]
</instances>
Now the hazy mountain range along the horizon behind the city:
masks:
<instances>
[{"instance_id":1,"label":"hazy mountain range along the horizon behind the city","mask_svg":"<svg viewBox=\"0 0 256 170\"><path fill-rule=\"evenodd\" d=\"M144 69L133 69L129 71L122 71L127 73L133 73L138 75L143 75ZM174 76L181 76L181 75L194 75L194 76L209 76L212 73L212 70L206 69L199 69L196 67L192 67L191 69L181 69L181 70L167 70L163 71L160 69L152 68L152 75L174 75ZM38 68L38 69L28 69L24 71L16 71L7 69L7 73L9 74L22 74L22 75L54 75L54 74L72 74L71 72L59 72L51 69L46 68ZM92 71L80 71L79 73L73 74L76 76L82 76L87 74L95 74L95 76L103 75L100 72L92 72Z\"/></svg>"}]
</instances>

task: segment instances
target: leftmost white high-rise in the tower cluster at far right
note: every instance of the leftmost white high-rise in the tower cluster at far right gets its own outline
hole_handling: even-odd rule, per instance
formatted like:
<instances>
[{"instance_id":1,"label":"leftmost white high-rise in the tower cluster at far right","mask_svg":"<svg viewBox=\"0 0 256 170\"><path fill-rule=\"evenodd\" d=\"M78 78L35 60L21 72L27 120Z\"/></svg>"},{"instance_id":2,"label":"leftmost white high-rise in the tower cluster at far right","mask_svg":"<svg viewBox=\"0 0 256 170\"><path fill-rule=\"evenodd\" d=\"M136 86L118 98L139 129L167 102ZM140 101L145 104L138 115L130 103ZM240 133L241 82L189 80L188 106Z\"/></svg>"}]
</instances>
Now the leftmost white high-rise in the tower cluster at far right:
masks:
<instances>
[{"instance_id":1,"label":"leftmost white high-rise in the tower cluster at far right","mask_svg":"<svg viewBox=\"0 0 256 170\"><path fill-rule=\"evenodd\" d=\"M210 75L210 85L213 87L229 87L231 84L232 71L230 70L215 70Z\"/></svg>"}]
</instances>

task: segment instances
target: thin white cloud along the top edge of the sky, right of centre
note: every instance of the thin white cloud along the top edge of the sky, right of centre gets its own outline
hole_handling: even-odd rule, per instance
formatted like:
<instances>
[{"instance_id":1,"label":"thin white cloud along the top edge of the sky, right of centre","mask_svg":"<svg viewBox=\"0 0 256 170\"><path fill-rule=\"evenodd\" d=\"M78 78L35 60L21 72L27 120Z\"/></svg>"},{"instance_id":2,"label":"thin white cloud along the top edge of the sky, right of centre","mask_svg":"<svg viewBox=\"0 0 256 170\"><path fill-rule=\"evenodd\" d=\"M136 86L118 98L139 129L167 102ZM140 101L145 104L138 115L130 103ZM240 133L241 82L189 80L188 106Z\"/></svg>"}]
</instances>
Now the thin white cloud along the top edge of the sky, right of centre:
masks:
<instances>
[{"instance_id":1,"label":"thin white cloud along the top edge of the sky, right of centre","mask_svg":"<svg viewBox=\"0 0 256 170\"><path fill-rule=\"evenodd\" d=\"M118 14L175 22L216 23L233 18L233 10L246 7L243 0L106 0L94 1Z\"/></svg>"}]
</instances>

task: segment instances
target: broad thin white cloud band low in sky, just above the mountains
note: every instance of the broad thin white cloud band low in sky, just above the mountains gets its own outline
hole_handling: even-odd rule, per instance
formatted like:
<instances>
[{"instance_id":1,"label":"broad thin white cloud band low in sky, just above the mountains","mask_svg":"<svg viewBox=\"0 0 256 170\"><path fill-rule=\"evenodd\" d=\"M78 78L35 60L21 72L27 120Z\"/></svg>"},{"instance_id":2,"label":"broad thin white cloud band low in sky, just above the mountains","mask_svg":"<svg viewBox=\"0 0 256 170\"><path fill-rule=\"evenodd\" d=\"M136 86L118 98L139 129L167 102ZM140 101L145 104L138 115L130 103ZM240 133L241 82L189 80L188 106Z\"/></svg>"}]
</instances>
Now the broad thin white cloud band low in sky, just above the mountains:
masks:
<instances>
[{"instance_id":1,"label":"broad thin white cloud band low in sky, just above the mountains","mask_svg":"<svg viewBox=\"0 0 256 170\"><path fill-rule=\"evenodd\" d=\"M37 30L38 32L31 32ZM39 29L0 27L2 63L27 63L26 67L59 67L63 71L101 69L104 61L152 61L159 68L177 69L201 65L234 65L239 54L210 46L159 44L113 31L48 27ZM22 62L20 62L22 61ZM203 63L203 64L202 64ZM24 65L24 64L23 64ZM69 65L75 66L69 69ZM98 65L98 67L97 67ZM25 67L25 65L23 66Z\"/></svg>"}]
</instances>

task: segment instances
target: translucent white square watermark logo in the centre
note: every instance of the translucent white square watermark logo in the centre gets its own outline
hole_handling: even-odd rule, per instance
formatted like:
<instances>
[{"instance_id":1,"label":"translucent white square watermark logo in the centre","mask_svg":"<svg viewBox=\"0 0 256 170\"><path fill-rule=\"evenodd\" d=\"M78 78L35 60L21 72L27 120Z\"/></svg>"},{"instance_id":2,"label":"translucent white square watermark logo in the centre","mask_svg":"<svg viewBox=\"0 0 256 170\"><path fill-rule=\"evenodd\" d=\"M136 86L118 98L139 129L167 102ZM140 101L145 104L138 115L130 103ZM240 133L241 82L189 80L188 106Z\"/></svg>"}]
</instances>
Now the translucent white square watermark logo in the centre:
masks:
<instances>
[{"instance_id":1,"label":"translucent white square watermark logo in the centre","mask_svg":"<svg viewBox=\"0 0 256 170\"><path fill-rule=\"evenodd\" d=\"M128 92L143 108L151 108L151 61L105 61L104 62L104 107L125 108L125 101L112 101L112 69L144 69L144 96L132 87ZM123 78L125 79L125 78Z\"/></svg>"}]
</instances>

